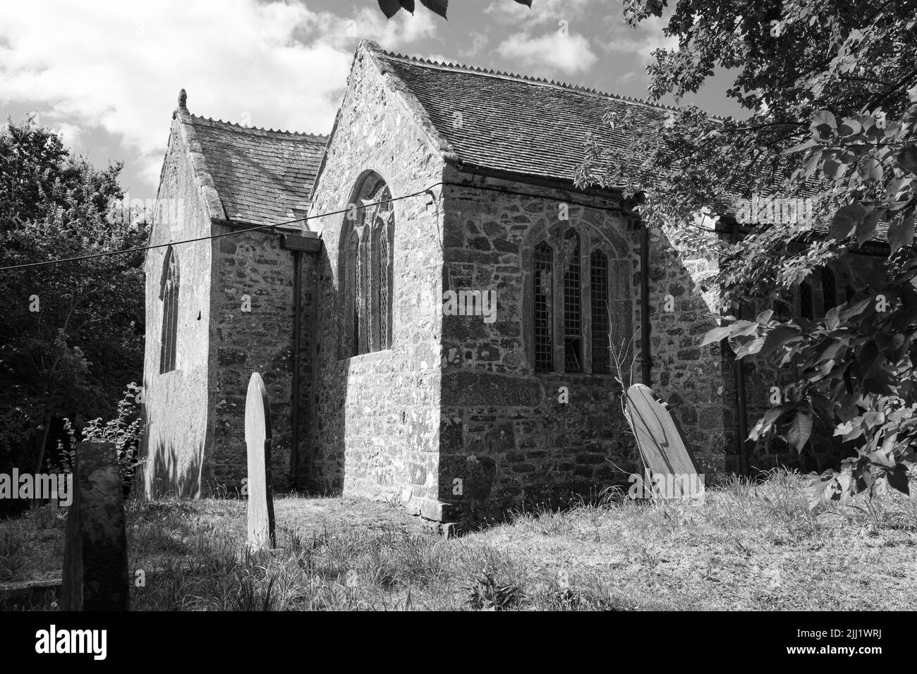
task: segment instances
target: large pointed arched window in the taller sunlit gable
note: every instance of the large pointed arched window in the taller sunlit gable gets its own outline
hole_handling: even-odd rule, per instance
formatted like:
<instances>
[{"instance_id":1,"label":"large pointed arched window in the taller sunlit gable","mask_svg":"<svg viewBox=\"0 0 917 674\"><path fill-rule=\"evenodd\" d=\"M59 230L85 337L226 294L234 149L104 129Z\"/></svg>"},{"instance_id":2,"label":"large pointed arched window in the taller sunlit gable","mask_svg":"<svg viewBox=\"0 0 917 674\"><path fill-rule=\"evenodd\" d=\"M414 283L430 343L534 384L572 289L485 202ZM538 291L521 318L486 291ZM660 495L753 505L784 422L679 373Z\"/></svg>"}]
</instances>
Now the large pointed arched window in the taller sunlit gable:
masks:
<instances>
[{"instance_id":1,"label":"large pointed arched window in the taller sunlit gable","mask_svg":"<svg viewBox=\"0 0 917 674\"><path fill-rule=\"evenodd\" d=\"M378 173L357 184L348 205L339 249L344 288L342 357L392 348L394 210Z\"/></svg>"}]
</instances>

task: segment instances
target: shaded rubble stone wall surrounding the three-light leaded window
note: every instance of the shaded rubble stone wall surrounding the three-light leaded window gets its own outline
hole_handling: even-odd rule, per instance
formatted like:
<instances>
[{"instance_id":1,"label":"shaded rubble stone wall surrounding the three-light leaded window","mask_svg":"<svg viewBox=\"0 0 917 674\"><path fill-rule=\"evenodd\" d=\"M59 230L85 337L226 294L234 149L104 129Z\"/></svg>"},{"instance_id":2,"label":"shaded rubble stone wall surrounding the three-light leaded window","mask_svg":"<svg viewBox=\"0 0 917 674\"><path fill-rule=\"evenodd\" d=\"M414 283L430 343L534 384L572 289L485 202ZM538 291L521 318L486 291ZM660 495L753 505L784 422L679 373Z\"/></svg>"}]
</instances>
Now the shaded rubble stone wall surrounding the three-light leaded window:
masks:
<instances>
[{"instance_id":1,"label":"shaded rubble stone wall surrounding the three-light leaded window","mask_svg":"<svg viewBox=\"0 0 917 674\"><path fill-rule=\"evenodd\" d=\"M611 373L593 373L588 347L583 371L565 373L561 310L554 312L555 371L536 371L532 256L541 240L557 250L562 232L579 233L582 332L589 335L587 261L602 249L620 343L639 325L633 227L609 199L451 169L447 180L462 186L449 185L444 198L443 289L492 290L497 307L491 323L482 315L443 316L439 498L453 504L454 516L475 520L625 482L636 456L620 386ZM555 293L561 278L555 272Z\"/></svg>"}]
</instances>

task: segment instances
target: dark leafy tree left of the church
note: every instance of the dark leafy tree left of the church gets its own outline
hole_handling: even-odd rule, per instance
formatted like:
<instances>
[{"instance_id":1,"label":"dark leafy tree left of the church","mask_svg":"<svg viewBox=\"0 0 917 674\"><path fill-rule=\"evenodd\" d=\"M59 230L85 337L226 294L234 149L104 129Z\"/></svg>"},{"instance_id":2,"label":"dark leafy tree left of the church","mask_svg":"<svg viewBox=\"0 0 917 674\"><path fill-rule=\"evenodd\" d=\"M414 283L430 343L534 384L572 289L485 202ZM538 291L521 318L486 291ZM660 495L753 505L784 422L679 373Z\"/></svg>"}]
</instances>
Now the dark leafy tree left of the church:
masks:
<instances>
[{"instance_id":1,"label":"dark leafy tree left of the church","mask_svg":"<svg viewBox=\"0 0 917 674\"><path fill-rule=\"evenodd\" d=\"M0 129L0 267L143 246L95 169L31 119ZM142 369L142 253L0 271L0 470L41 470L52 426L97 416Z\"/></svg>"}]
</instances>

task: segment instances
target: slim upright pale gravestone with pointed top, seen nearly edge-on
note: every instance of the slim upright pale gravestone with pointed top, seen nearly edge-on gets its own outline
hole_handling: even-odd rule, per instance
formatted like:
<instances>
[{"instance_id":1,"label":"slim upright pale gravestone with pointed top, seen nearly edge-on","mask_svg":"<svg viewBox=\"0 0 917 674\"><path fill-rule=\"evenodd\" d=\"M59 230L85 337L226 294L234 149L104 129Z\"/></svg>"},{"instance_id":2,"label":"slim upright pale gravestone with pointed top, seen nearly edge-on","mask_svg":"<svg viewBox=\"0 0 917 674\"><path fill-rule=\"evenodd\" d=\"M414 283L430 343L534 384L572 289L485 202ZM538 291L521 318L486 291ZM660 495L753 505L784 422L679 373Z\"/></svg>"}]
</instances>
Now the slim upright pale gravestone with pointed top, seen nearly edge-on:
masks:
<instances>
[{"instance_id":1,"label":"slim upright pale gravestone with pointed top, seen nearly edge-on","mask_svg":"<svg viewBox=\"0 0 917 674\"><path fill-rule=\"evenodd\" d=\"M245 397L245 444L249 452L249 547L274 547L271 489L271 407L261 375L253 372Z\"/></svg>"}]
</instances>

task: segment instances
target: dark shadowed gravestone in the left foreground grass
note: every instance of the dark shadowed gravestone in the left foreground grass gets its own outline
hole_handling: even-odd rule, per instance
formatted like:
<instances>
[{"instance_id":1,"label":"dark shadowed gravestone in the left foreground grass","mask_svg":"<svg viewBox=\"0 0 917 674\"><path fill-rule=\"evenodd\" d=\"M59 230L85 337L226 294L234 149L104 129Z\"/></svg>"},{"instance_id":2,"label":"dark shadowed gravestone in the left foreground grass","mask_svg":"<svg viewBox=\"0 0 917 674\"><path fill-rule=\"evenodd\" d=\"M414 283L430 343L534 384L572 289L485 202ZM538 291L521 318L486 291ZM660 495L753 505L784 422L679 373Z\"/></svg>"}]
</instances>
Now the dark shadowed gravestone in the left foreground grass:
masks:
<instances>
[{"instance_id":1,"label":"dark shadowed gravestone in the left foreground grass","mask_svg":"<svg viewBox=\"0 0 917 674\"><path fill-rule=\"evenodd\" d=\"M64 611L127 611L124 491L111 442L81 442L73 460L61 577Z\"/></svg>"}]
</instances>

